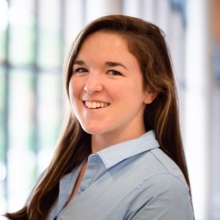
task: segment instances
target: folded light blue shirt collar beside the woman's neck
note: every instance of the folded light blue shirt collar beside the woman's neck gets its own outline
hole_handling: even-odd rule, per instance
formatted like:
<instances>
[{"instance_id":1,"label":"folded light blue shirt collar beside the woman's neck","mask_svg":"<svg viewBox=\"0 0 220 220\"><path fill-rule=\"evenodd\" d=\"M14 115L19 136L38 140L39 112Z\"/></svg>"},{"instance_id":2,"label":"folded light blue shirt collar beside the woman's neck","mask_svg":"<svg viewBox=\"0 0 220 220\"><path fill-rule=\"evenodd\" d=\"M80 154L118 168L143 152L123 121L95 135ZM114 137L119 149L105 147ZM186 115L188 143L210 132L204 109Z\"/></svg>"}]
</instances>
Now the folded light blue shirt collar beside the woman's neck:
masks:
<instances>
[{"instance_id":1,"label":"folded light blue shirt collar beside the woman's neck","mask_svg":"<svg viewBox=\"0 0 220 220\"><path fill-rule=\"evenodd\" d=\"M105 148L97 154L108 169L115 164L139 153L159 147L154 131L148 131L139 138L125 141Z\"/></svg>"}]
</instances>

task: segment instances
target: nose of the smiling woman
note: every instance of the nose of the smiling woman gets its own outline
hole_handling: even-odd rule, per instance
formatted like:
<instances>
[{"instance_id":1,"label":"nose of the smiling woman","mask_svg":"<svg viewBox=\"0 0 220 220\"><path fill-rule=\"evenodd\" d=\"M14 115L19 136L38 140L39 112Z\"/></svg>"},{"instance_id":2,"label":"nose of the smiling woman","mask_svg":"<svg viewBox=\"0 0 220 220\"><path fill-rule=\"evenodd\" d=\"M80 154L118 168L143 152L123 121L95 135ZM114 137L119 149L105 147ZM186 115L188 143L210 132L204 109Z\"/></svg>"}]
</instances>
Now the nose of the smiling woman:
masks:
<instances>
[{"instance_id":1,"label":"nose of the smiling woman","mask_svg":"<svg viewBox=\"0 0 220 220\"><path fill-rule=\"evenodd\" d=\"M84 90L88 94L92 94L94 92L101 92L103 90L103 83L100 74L90 73L86 80Z\"/></svg>"}]
</instances>

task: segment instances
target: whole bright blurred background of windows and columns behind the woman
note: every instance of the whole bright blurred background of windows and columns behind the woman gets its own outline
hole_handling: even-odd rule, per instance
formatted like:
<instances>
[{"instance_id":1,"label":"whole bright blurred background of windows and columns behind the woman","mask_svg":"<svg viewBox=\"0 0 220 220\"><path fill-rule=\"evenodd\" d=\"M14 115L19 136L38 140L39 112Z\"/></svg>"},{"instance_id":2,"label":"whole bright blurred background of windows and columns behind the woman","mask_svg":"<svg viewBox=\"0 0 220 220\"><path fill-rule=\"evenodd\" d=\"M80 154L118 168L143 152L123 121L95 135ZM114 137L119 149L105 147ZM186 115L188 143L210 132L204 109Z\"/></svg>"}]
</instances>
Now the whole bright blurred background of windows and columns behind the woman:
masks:
<instances>
[{"instance_id":1,"label":"whole bright blurred background of windows and columns behind the woman","mask_svg":"<svg viewBox=\"0 0 220 220\"><path fill-rule=\"evenodd\" d=\"M197 220L220 219L220 0L0 0L0 214L24 204L64 116L62 65L93 19L126 14L166 33Z\"/></svg>"}]
</instances>

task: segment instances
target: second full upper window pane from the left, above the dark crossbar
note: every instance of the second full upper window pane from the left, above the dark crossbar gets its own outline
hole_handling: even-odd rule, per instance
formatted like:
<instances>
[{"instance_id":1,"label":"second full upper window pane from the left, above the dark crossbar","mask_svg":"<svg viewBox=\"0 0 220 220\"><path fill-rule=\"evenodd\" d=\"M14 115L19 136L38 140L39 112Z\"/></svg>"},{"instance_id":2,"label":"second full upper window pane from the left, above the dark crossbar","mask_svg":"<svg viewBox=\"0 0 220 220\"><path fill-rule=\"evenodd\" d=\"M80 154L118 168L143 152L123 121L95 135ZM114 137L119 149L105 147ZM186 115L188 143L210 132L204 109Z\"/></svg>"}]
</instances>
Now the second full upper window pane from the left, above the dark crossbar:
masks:
<instances>
[{"instance_id":1,"label":"second full upper window pane from the left, above the dark crossbar","mask_svg":"<svg viewBox=\"0 0 220 220\"><path fill-rule=\"evenodd\" d=\"M38 65L42 69L58 68L62 63L60 10L59 0L53 1L53 7L50 0L39 0Z\"/></svg>"}]
</instances>

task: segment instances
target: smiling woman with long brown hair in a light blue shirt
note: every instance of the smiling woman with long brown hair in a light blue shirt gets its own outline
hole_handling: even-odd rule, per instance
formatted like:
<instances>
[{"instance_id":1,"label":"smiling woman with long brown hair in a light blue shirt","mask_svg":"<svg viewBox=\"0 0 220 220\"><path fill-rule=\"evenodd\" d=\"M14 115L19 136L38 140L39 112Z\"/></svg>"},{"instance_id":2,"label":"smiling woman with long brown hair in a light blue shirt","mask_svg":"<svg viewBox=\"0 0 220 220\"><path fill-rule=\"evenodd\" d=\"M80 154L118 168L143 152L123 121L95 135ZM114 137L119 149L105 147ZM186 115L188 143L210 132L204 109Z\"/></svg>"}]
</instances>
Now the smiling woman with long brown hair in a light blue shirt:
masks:
<instances>
[{"instance_id":1,"label":"smiling woman with long brown hair in a light blue shirt","mask_svg":"<svg viewBox=\"0 0 220 220\"><path fill-rule=\"evenodd\" d=\"M70 111L51 164L10 219L193 219L176 87L162 31L111 15L65 64Z\"/></svg>"}]
</instances>

